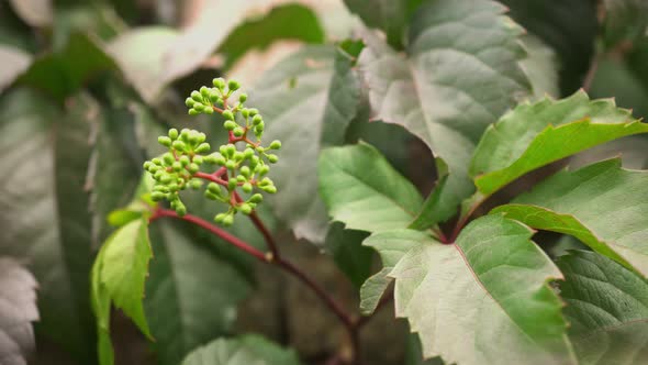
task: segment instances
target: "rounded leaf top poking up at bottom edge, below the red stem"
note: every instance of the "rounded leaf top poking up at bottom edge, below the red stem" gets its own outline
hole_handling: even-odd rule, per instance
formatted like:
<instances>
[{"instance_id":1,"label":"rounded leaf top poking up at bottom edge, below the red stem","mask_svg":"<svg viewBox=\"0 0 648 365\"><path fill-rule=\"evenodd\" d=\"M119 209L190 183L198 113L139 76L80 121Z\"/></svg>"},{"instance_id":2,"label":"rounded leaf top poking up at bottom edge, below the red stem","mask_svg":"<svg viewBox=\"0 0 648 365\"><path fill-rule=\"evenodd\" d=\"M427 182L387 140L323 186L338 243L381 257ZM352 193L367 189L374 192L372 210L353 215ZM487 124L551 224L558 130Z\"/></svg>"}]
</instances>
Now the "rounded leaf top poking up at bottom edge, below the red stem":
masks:
<instances>
[{"instance_id":1,"label":"rounded leaf top poking up at bottom edge, below the red stem","mask_svg":"<svg viewBox=\"0 0 648 365\"><path fill-rule=\"evenodd\" d=\"M198 347L182 365L299 365L297 353L258 335L219 339Z\"/></svg>"}]
</instances>

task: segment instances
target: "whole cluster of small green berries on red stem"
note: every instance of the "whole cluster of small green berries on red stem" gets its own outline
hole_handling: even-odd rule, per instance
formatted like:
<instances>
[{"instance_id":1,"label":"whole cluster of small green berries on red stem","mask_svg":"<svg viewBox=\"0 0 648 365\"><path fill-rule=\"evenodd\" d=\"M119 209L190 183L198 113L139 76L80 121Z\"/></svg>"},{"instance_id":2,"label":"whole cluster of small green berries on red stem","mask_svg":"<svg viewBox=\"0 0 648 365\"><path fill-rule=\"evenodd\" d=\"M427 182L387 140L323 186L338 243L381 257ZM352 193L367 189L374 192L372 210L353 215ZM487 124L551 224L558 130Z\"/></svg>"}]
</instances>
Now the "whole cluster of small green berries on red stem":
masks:
<instances>
[{"instance_id":1,"label":"whole cluster of small green berries on red stem","mask_svg":"<svg viewBox=\"0 0 648 365\"><path fill-rule=\"evenodd\" d=\"M155 179L152 199L168 200L178 215L185 215L187 208L180 200L179 192L187 189L200 189L203 181L210 181L204 189L208 199L228 206L227 211L214 217L216 223L231 225L237 212L250 214L264 199L261 193L277 192L273 181L267 176L270 164L279 161L272 151L281 148L281 142L272 141L268 146L261 145L265 123L259 111L245 108L247 95L238 93L237 102L231 106L228 99L239 89L238 82L222 78L213 80L213 88L201 87L191 92L186 103L189 114L221 113L225 119L223 126L228 131L230 141L221 145L219 152L208 154L211 146L205 142L204 133L193 130L169 130L168 135L158 142L168 148L164 155L144 163L144 168ZM254 134L250 140L248 134ZM215 172L201 172L204 165L220 166ZM212 168L213 170L213 168ZM243 199L237 190L247 199Z\"/></svg>"}]
</instances>

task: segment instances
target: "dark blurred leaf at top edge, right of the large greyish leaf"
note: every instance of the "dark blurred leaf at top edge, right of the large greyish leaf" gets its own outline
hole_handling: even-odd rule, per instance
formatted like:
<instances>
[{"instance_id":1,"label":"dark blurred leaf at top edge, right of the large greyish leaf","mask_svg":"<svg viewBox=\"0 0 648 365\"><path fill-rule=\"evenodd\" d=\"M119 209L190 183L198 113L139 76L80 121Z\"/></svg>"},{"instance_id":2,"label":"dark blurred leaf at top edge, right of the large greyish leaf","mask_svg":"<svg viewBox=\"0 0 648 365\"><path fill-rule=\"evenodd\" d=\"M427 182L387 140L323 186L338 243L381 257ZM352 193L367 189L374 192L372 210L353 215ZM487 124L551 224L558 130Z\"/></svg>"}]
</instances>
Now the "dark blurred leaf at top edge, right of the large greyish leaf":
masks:
<instances>
[{"instance_id":1,"label":"dark blurred leaf at top edge, right of the large greyish leaf","mask_svg":"<svg viewBox=\"0 0 648 365\"><path fill-rule=\"evenodd\" d=\"M510 16L555 49L562 95L578 90L590 69L599 34L595 1L500 0ZM574 21L578 19L578 21ZM533 79L533 77L532 77Z\"/></svg>"}]
</instances>

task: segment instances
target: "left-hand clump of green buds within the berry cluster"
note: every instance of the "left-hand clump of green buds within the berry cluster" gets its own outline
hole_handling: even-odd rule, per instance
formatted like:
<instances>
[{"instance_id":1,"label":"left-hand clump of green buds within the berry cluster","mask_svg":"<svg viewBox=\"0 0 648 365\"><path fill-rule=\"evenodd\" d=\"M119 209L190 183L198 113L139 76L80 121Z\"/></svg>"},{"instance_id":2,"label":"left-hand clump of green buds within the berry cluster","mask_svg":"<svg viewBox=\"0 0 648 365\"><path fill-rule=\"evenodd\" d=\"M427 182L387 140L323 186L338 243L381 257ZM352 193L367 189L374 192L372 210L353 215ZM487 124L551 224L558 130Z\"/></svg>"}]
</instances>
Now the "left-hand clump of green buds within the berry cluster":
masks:
<instances>
[{"instance_id":1,"label":"left-hand clump of green buds within the berry cluster","mask_svg":"<svg viewBox=\"0 0 648 365\"><path fill-rule=\"evenodd\" d=\"M206 135L198 131L171 129L168 135L157 139L168 152L144 163L144 169L155 180L150 198L154 201L168 200L180 217L187 213L187 207L179 192L187 188L200 189L203 181L194 177L195 173L204 163L214 163L204 156L211 151L205 140Z\"/></svg>"}]
</instances>

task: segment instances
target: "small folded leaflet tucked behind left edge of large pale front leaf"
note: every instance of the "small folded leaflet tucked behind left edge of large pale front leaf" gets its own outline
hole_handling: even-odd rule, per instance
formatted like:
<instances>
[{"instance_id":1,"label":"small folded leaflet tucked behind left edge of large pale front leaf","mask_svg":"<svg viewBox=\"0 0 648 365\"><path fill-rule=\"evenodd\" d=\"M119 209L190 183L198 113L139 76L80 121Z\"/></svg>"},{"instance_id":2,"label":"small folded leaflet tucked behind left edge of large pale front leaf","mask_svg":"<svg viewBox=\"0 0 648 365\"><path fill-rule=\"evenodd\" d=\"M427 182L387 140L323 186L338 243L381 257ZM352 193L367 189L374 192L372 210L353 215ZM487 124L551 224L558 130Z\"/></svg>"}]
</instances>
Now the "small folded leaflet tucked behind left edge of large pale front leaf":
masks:
<instances>
[{"instance_id":1,"label":"small folded leaflet tucked behind left edge of large pale front leaf","mask_svg":"<svg viewBox=\"0 0 648 365\"><path fill-rule=\"evenodd\" d=\"M384 290L392 281L388 277L389 273L410 248L426 240L428 240L428 235L423 232L395 230L375 233L362 242L364 245L378 251L382 259L382 269L367 279L360 288L360 311L362 314L373 313Z\"/></svg>"}]
</instances>

